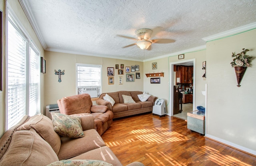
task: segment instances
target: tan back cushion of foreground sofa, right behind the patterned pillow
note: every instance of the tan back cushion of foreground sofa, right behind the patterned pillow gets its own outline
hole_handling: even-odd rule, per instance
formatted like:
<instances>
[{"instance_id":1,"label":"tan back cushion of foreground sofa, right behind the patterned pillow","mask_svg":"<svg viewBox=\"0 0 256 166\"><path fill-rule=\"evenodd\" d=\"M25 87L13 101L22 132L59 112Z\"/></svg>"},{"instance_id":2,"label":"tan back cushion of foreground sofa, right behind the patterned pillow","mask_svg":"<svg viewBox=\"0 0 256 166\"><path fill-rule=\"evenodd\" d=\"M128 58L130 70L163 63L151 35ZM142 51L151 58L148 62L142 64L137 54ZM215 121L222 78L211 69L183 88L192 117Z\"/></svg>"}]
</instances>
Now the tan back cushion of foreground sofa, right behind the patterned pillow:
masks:
<instances>
[{"instance_id":1,"label":"tan back cushion of foreground sofa, right behind the patterned pillow","mask_svg":"<svg viewBox=\"0 0 256 166\"><path fill-rule=\"evenodd\" d=\"M54 131L54 126L52 120L44 115L34 115L30 117L28 122L24 123L17 130L30 130L34 129L36 132L44 139L56 154L59 153L60 150L60 135Z\"/></svg>"}]
</instances>

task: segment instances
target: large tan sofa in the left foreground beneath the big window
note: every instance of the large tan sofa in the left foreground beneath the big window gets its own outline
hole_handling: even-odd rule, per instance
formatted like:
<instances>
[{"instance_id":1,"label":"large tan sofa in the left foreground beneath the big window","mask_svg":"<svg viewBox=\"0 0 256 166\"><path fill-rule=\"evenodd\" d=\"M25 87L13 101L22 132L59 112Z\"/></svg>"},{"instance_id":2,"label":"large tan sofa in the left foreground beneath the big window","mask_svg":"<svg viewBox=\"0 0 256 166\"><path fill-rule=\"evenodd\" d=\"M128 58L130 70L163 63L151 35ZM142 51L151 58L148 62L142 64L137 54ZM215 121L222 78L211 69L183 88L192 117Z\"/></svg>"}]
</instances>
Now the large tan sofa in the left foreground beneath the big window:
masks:
<instances>
[{"instance_id":1,"label":"large tan sofa in the left foreground beneath the big window","mask_svg":"<svg viewBox=\"0 0 256 166\"><path fill-rule=\"evenodd\" d=\"M84 137L68 138L54 131L54 124L48 117L24 116L0 139L2 147L0 148L0 165L46 166L52 163L56 166L60 165L60 161L76 160L77 162L79 160L79 162L106 162L114 166L122 166L94 129L93 115L83 115L80 118ZM129 166L144 165L133 162Z\"/></svg>"}]
</instances>

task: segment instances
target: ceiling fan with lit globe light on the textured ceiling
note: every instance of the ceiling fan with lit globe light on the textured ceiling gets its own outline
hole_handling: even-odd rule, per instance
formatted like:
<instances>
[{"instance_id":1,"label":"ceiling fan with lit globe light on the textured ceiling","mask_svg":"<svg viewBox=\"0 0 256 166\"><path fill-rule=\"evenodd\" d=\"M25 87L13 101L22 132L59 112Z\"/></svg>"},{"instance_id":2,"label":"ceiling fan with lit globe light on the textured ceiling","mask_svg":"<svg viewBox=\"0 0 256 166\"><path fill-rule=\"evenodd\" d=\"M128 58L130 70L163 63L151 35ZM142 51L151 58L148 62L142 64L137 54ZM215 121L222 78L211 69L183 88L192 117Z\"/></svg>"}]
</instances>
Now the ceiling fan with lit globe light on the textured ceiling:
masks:
<instances>
[{"instance_id":1,"label":"ceiling fan with lit globe light on the textured ceiling","mask_svg":"<svg viewBox=\"0 0 256 166\"><path fill-rule=\"evenodd\" d=\"M120 36L122 38L128 38L128 39L137 41L136 43L126 45L122 48L130 47L132 45L137 45L141 49L145 50L145 49L148 49L148 47L152 43L173 43L173 42L175 42L175 40L171 40L171 39L152 39L152 40L150 40L150 38L154 37L161 29L162 29L162 27L156 27L153 30L150 30L148 28L138 29L135 31L135 34L137 35L138 39L131 38L128 36L122 36L122 35L118 35L118 36Z\"/></svg>"}]
</instances>

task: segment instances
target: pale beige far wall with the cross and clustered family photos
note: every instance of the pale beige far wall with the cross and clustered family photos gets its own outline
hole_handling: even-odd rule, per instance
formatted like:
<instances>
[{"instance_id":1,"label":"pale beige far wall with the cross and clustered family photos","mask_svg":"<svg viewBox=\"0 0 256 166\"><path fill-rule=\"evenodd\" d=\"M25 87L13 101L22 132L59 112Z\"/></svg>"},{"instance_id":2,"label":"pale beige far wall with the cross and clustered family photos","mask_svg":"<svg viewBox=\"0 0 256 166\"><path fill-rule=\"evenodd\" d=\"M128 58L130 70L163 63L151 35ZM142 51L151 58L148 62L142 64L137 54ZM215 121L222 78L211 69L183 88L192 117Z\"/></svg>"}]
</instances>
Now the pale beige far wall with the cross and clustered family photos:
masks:
<instances>
[{"instance_id":1,"label":"pale beige far wall with the cross and clustered family photos","mask_svg":"<svg viewBox=\"0 0 256 166\"><path fill-rule=\"evenodd\" d=\"M65 96L76 95L76 63L102 65L102 93L115 91L143 91L143 62L112 59L104 57L92 57L86 55L74 55L69 53L58 53L45 51L46 74L45 74L45 103L56 104L58 99ZM118 75L115 65L124 64L126 66L139 65L141 78L134 82L126 82L126 73ZM114 67L114 85L108 85L107 67ZM54 74L54 69L65 70L61 76L62 82L58 82L58 75ZM134 74L136 72L130 72ZM118 77L123 77L123 84L119 85Z\"/></svg>"}]
</instances>

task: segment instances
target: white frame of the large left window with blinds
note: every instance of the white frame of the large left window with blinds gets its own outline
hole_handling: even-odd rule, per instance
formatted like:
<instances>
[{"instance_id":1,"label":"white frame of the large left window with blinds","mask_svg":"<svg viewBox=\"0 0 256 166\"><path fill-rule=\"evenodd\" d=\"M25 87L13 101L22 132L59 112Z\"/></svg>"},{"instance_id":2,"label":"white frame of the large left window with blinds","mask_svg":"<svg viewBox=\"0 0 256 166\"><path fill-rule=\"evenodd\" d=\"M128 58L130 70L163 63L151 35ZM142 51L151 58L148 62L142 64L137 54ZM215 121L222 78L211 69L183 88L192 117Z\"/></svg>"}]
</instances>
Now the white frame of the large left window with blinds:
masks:
<instances>
[{"instance_id":1,"label":"white frame of the large left window with blinds","mask_svg":"<svg viewBox=\"0 0 256 166\"><path fill-rule=\"evenodd\" d=\"M20 22L20 20L18 19L18 17L16 16L15 12L12 10L12 8L10 7L10 5L8 4L8 1L6 1L6 14L5 14L5 32L6 32L6 45L5 45L5 56L6 56L6 81L5 81L5 88L6 88L6 111L5 111L5 130L8 130L8 128L12 127L9 126L8 124L8 24L9 21L11 22L11 24L14 26L14 28L20 33L21 36L24 37L24 39L26 40L26 55L25 55L25 66L26 66L26 115L30 115L29 112L29 106L30 106L30 49L33 49L35 55L38 56L38 61L37 61L37 65L38 65L38 70L36 71L36 74L39 78L38 81L38 91L37 91L37 95L38 95L38 103L37 103L37 107L36 107L36 111L35 113L33 113L33 115L36 114L40 114L40 108L41 108L41 103L40 103L40 55L41 52L38 49L38 47L36 46L36 44L34 43L34 41L32 40L32 38L30 37L30 35L28 34L26 28L24 28L24 26L22 25L22 23ZM33 68L32 68L33 69ZM15 123L18 123L20 121L20 119L16 119Z\"/></svg>"}]
</instances>

